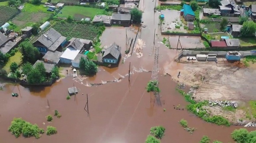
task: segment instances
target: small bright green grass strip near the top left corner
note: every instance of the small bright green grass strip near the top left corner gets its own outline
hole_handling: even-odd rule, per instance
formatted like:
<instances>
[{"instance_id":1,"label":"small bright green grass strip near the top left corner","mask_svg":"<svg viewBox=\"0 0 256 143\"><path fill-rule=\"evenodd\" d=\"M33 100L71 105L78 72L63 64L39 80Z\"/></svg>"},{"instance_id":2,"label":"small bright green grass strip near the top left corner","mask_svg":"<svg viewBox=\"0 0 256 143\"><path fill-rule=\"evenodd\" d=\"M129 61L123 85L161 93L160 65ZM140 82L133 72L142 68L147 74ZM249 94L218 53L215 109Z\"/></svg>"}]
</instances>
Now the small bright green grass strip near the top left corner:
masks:
<instances>
[{"instance_id":1,"label":"small bright green grass strip near the top left corner","mask_svg":"<svg viewBox=\"0 0 256 143\"><path fill-rule=\"evenodd\" d=\"M24 8L22 9L23 12L43 12L43 13L53 13L51 11L47 11L47 7L44 7L43 4L34 5L26 3Z\"/></svg>"}]
</instances>

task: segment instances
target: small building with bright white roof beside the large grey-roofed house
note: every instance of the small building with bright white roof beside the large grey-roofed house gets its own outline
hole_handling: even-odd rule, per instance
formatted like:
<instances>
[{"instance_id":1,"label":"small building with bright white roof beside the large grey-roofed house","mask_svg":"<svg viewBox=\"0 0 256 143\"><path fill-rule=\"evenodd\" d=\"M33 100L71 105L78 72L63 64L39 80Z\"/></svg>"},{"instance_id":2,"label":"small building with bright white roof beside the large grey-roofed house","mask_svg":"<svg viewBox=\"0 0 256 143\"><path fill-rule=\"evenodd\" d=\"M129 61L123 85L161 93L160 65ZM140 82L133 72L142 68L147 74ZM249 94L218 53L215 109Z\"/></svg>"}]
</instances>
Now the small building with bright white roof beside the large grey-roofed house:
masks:
<instances>
[{"instance_id":1,"label":"small building with bright white roof beside the large grey-roofed house","mask_svg":"<svg viewBox=\"0 0 256 143\"><path fill-rule=\"evenodd\" d=\"M67 48L64 53L60 56L60 63L72 64L72 60L79 54L80 50Z\"/></svg>"}]
</instances>

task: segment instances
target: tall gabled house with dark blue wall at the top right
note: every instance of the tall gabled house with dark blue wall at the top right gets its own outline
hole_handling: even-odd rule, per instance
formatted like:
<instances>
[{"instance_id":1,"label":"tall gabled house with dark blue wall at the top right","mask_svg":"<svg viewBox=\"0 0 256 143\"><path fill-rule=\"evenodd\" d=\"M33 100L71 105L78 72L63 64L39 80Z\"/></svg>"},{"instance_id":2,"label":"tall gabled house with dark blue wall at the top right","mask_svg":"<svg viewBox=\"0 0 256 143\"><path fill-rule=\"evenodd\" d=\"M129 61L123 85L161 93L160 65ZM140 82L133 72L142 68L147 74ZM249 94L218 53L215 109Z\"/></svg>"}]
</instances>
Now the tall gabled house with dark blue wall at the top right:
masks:
<instances>
[{"instance_id":1,"label":"tall gabled house with dark blue wall at the top right","mask_svg":"<svg viewBox=\"0 0 256 143\"><path fill-rule=\"evenodd\" d=\"M240 11L237 6L229 0L222 0L220 3L221 5L219 6L219 10L221 12L221 16L240 16Z\"/></svg>"}]
</instances>

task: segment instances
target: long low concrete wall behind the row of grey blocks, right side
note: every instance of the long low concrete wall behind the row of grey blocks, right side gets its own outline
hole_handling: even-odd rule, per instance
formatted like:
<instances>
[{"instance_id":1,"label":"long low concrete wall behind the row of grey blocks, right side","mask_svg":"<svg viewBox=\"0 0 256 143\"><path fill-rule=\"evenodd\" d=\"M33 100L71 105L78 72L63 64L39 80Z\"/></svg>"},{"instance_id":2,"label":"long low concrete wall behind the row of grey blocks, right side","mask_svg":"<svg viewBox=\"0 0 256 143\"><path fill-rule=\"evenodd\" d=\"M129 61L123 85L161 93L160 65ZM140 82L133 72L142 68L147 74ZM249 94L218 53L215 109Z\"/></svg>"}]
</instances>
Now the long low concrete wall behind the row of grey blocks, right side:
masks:
<instances>
[{"instance_id":1,"label":"long low concrete wall behind the row of grey blocks, right side","mask_svg":"<svg viewBox=\"0 0 256 143\"><path fill-rule=\"evenodd\" d=\"M195 50L183 50L181 53L178 55L179 57L181 55L188 56L188 55L197 55L197 54L217 54L218 56L226 56L226 51L195 51ZM241 57L244 56L256 56L256 53L254 52L248 52L248 51L241 51L239 52L241 54Z\"/></svg>"}]
</instances>

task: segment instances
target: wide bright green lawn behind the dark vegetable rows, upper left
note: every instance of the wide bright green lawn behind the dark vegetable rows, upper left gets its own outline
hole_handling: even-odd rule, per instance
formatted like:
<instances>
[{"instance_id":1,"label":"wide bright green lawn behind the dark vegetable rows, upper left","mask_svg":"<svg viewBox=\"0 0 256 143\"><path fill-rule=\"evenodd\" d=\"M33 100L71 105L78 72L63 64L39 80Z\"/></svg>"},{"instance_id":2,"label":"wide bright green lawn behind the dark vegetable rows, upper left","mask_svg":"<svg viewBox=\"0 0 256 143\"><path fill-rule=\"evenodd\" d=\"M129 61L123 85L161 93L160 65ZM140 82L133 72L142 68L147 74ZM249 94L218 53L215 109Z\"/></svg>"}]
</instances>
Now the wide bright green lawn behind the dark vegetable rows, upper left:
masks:
<instances>
[{"instance_id":1,"label":"wide bright green lawn behind the dark vegetable rows, upper left","mask_svg":"<svg viewBox=\"0 0 256 143\"><path fill-rule=\"evenodd\" d=\"M105 10L91 7L65 6L61 12L62 14L57 14L57 17L67 18L70 15L72 18L80 18L81 16L92 18L97 14L104 14Z\"/></svg>"}]
</instances>

